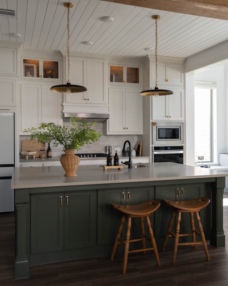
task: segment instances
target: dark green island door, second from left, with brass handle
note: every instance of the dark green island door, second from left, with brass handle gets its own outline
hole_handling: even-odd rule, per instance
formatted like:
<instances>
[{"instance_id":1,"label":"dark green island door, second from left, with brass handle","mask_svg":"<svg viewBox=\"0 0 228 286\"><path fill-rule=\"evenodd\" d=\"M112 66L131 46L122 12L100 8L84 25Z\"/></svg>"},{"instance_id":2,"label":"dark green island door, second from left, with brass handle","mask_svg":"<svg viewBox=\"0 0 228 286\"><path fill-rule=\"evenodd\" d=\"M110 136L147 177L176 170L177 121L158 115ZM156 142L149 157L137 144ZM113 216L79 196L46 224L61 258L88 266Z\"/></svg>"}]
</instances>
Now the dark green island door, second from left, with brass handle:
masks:
<instances>
[{"instance_id":1,"label":"dark green island door, second from left, with brass handle","mask_svg":"<svg viewBox=\"0 0 228 286\"><path fill-rule=\"evenodd\" d=\"M64 193L64 249L96 244L96 190Z\"/></svg>"}]
</instances>

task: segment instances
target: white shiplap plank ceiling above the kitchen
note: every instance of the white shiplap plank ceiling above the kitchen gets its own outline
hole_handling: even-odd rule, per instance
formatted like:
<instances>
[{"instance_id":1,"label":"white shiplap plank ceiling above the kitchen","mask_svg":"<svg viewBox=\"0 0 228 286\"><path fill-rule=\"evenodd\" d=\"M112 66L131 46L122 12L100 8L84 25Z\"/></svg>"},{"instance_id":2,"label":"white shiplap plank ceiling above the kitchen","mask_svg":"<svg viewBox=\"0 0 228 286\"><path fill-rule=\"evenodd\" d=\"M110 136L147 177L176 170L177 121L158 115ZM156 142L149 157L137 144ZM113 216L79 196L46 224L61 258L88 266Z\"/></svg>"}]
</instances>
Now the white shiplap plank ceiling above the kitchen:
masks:
<instances>
[{"instance_id":1,"label":"white shiplap plank ceiling above the kitchen","mask_svg":"<svg viewBox=\"0 0 228 286\"><path fill-rule=\"evenodd\" d=\"M0 8L17 10L17 19L0 17L0 40L24 42L25 49L66 50L67 9L60 0L0 0ZM72 0L70 50L120 57L143 57L155 47L159 14L158 54L188 57L228 39L228 21L160 11L99 0ZM114 21L103 23L102 16ZM19 33L18 39L9 33ZM86 46L82 41L92 41Z\"/></svg>"}]
</instances>

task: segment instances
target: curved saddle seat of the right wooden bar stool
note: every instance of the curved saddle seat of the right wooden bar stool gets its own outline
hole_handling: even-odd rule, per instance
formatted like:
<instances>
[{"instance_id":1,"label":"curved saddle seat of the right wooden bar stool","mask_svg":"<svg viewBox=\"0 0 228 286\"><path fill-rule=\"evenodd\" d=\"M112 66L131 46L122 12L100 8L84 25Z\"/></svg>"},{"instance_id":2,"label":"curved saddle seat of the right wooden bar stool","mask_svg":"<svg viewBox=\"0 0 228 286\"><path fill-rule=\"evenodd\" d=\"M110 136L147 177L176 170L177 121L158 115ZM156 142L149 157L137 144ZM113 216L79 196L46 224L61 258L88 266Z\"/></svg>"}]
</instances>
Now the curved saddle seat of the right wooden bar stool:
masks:
<instances>
[{"instance_id":1,"label":"curved saddle seat of the right wooden bar stool","mask_svg":"<svg viewBox=\"0 0 228 286\"><path fill-rule=\"evenodd\" d=\"M178 210L186 210L188 212L198 212L201 208L205 208L209 203L210 199L207 197L194 198L193 200L183 200L174 202L172 200L163 200L166 204L169 204L173 208Z\"/></svg>"}]
</instances>

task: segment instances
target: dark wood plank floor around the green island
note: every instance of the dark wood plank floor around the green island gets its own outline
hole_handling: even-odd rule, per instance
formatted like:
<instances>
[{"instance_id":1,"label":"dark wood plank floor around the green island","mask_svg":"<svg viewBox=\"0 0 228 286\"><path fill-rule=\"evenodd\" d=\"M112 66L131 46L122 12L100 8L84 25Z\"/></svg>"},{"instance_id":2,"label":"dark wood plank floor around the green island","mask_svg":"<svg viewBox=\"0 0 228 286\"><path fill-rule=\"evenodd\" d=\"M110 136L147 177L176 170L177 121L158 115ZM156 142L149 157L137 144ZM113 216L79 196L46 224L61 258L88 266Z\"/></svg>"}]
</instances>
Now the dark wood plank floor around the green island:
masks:
<instances>
[{"instance_id":1,"label":"dark wood plank floor around the green island","mask_svg":"<svg viewBox=\"0 0 228 286\"><path fill-rule=\"evenodd\" d=\"M224 195L228 198L228 194ZM228 230L228 206L224 206L224 230ZM127 273L122 274L123 256L114 261L96 257L30 267L30 278L14 280L15 216L0 214L0 286L227 286L228 236L226 247L208 246L207 261L201 246L178 250L176 264L172 252L159 253L162 266L157 267L154 254L129 254Z\"/></svg>"}]
</instances>

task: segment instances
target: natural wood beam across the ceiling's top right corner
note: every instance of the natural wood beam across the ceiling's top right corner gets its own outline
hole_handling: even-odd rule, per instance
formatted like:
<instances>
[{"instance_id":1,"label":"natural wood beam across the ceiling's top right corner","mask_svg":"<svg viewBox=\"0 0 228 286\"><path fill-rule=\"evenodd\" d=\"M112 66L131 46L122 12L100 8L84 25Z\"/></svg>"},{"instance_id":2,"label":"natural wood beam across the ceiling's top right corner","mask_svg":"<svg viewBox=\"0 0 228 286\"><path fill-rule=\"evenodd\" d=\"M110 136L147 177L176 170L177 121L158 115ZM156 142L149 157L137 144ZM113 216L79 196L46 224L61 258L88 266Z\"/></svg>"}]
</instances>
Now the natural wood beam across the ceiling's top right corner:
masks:
<instances>
[{"instance_id":1,"label":"natural wood beam across the ceiling's top right corner","mask_svg":"<svg viewBox=\"0 0 228 286\"><path fill-rule=\"evenodd\" d=\"M227 0L103 0L196 16L228 20Z\"/></svg>"}]
</instances>

